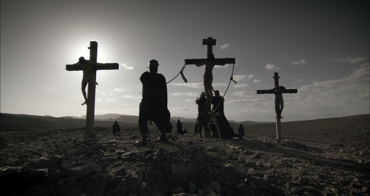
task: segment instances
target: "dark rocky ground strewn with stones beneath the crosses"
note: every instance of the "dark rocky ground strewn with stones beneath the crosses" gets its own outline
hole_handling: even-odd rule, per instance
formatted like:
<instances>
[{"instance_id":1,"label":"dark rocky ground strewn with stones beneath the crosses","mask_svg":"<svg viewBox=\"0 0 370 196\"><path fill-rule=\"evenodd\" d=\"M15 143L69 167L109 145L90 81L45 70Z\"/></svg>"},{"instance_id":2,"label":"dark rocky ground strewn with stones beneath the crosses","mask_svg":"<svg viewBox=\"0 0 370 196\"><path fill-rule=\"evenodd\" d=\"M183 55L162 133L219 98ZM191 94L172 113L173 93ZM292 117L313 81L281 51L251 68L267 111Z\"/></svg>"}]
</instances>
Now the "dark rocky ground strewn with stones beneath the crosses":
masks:
<instances>
[{"instance_id":1,"label":"dark rocky ground strewn with stones beneath the crosses","mask_svg":"<svg viewBox=\"0 0 370 196\"><path fill-rule=\"evenodd\" d=\"M370 195L369 115L283 123L281 140L273 128L226 141L173 130L170 144L151 130L146 147L134 126L1 132L2 193Z\"/></svg>"}]
</instances>

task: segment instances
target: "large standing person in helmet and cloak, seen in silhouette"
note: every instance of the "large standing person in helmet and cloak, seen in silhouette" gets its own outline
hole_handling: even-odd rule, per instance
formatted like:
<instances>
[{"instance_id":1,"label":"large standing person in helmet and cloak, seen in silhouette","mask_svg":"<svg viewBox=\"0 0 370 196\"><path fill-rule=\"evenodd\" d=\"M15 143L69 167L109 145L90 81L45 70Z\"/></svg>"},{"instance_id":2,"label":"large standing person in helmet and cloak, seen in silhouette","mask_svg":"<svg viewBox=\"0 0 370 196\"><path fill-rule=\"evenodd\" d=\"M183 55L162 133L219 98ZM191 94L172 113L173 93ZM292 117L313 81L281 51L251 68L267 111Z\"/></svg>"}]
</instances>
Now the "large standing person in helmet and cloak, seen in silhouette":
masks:
<instances>
[{"instance_id":1,"label":"large standing person in helmet and cloak, seen in silhouette","mask_svg":"<svg viewBox=\"0 0 370 196\"><path fill-rule=\"evenodd\" d=\"M159 142L168 142L166 133L172 132L170 123L170 111L167 108L167 85L166 78L158 72L158 61L149 61L149 72L144 72L140 76L142 83L142 99L139 105L139 131L141 134L141 144L146 145L147 141L147 122L150 119L156 123L161 131Z\"/></svg>"}]
</instances>

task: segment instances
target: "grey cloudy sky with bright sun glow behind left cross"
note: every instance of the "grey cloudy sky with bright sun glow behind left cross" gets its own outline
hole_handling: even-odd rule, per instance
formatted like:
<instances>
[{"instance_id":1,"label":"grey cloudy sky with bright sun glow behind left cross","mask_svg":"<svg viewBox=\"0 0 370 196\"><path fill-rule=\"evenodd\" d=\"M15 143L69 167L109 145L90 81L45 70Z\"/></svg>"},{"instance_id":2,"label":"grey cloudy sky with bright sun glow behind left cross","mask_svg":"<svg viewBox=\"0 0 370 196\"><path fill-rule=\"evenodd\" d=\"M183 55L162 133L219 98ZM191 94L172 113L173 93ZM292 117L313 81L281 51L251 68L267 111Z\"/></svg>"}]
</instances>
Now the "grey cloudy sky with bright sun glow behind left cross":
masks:
<instances>
[{"instance_id":1,"label":"grey cloudy sky with bright sun glow behind left cross","mask_svg":"<svg viewBox=\"0 0 370 196\"><path fill-rule=\"evenodd\" d=\"M53 117L86 115L82 71L67 64L89 59L98 42L95 114L138 116L142 84L151 59L166 81L185 59L206 58L212 37L213 88L225 95L225 116L274 122L280 86L282 122L369 114L369 1L22 1L2 0L0 33L1 113ZM234 67L234 72L232 70ZM187 65L167 84L172 117L197 118L204 66ZM230 77L231 82L226 92ZM87 89L86 89L87 90ZM226 94L225 94L226 92Z\"/></svg>"}]
</instances>

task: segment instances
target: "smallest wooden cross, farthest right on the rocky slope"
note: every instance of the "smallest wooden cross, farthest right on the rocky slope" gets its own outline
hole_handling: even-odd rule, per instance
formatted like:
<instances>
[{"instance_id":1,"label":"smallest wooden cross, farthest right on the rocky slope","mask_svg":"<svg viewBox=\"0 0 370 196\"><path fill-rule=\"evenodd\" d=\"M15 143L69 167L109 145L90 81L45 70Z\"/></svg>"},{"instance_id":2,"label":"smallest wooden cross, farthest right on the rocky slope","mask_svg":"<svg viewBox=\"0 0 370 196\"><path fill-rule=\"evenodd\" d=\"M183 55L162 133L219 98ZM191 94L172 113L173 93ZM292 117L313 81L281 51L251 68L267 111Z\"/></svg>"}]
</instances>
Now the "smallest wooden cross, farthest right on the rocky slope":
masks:
<instances>
[{"instance_id":1,"label":"smallest wooden cross, farthest right on the rocky slope","mask_svg":"<svg viewBox=\"0 0 370 196\"><path fill-rule=\"evenodd\" d=\"M279 87L279 74L277 72L274 73L274 87ZM257 90L257 94L275 94L275 112L276 112L276 139L281 138L281 112L283 110L284 104L280 103L280 101L283 101L283 93L297 93L297 89L285 89L285 90L279 90L279 92L276 92L274 89L270 90ZM281 100L278 98L278 96L281 96ZM282 105L280 107L280 105Z\"/></svg>"}]
</instances>

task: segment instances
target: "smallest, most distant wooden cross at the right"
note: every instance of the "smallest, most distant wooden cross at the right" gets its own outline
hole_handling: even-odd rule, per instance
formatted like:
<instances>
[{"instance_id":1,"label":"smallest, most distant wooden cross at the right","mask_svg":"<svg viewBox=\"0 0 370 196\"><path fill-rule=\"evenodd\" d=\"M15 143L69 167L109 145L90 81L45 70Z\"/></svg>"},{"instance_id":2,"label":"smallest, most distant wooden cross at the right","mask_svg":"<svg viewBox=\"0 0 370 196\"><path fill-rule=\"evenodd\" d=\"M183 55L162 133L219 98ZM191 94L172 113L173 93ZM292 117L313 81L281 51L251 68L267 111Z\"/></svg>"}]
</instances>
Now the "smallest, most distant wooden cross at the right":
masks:
<instances>
[{"instance_id":1,"label":"smallest, most distant wooden cross at the right","mask_svg":"<svg viewBox=\"0 0 370 196\"><path fill-rule=\"evenodd\" d=\"M274 87L279 87L279 74L277 72L274 73ZM285 89L283 91L280 91L280 93L297 93L297 89ZM276 113L279 113L279 103L276 103L277 95L274 89L270 90L257 90L257 94L275 94L275 111ZM276 139L281 139L281 112L280 114L276 114Z\"/></svg>"}]
</instances>

